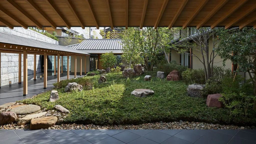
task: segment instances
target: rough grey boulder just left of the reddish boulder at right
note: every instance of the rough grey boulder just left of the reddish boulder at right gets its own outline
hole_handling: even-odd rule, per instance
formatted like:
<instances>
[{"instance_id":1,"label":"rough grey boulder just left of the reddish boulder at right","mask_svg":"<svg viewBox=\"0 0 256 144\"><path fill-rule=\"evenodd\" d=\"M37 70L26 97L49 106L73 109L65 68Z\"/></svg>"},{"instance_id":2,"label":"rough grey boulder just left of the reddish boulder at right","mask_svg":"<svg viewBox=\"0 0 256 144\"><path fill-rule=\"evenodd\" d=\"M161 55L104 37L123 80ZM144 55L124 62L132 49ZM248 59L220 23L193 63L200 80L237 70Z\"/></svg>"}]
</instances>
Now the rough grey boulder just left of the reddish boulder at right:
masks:
<instances>
[{"instance_id":1,"label":"rough grey boulder just left of the reddish boulder at right","mask_svg":"<svg viewBox=\"0 0 256 144\"><path fill-rule=\"evenodd\" d=\"M188 85L187 92L190 97L201 97L201 91L205 87L202 84Z\"/></svg>"}]
</instances>

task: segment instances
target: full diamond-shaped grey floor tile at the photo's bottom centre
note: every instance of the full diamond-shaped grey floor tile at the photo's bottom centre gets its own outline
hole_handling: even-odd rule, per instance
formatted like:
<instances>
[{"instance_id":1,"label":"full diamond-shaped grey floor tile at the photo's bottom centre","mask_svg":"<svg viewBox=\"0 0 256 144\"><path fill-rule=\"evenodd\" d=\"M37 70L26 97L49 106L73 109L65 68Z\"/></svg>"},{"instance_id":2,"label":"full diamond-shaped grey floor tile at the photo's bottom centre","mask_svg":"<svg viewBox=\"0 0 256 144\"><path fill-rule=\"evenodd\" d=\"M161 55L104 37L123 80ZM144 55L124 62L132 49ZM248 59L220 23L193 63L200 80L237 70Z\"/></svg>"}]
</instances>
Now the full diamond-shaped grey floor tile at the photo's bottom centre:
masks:
<instances>
[{"instance_id":1,"label":"full diamond-shaped grey floor tile at the photo's bottom centre","mask_svg":"<svg viewBox=\"0 0 256 144\"><path fill-rule=\"evenodd\" d=\"M133 140L139 138L140 136L136 135L135 133L132 133L130 131L124 131L124 132L118 133L112 137L114 137L118 140L121 140L122 142L128 143L130 141L133 141Z\"/></svg>"}]
</instances>

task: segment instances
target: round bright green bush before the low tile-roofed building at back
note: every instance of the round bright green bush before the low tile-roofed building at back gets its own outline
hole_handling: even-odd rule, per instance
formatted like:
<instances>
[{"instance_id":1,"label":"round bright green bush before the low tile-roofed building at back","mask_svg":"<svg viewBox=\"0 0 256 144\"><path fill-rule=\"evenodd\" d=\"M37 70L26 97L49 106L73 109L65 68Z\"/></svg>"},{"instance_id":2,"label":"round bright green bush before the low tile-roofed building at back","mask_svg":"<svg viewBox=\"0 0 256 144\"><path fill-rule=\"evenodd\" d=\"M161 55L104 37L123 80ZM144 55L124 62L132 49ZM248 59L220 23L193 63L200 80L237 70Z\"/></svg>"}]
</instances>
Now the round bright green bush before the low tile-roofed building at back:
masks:
<instances>
[{"instance_id":1,"label":"round bright green bush before the low tile-roofed building at back","mask_svg":"<svg viewBox=\"0 0 256 144\"><path fill-rule=\"evenodd\" d=\"M102 54L100 59L101 66L105 68L112 68L116 65L116 56L114 56L113 52Z\"/></svg>"}]
</instances>

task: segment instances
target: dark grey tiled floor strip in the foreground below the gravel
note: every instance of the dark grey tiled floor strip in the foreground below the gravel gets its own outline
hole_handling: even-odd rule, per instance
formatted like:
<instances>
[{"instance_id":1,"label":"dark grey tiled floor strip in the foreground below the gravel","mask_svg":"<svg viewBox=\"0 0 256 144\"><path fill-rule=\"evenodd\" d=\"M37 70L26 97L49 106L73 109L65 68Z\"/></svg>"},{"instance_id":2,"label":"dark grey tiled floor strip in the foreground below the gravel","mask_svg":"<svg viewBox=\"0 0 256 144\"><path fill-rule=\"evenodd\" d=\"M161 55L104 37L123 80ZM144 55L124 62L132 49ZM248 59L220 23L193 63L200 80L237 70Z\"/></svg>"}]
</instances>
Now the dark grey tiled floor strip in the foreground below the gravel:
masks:
<instances>
[{"instance_id":1,"label":"dark grey tiled floor strip in the foreground below the gravel","mask_svg":"<svg viewBox=\"0 0 256 144\"><path fill-rule=\"evenodd\" d=\"M0 130L0 143L253 144L256 130Z\"/></svg>"}]
</instances>

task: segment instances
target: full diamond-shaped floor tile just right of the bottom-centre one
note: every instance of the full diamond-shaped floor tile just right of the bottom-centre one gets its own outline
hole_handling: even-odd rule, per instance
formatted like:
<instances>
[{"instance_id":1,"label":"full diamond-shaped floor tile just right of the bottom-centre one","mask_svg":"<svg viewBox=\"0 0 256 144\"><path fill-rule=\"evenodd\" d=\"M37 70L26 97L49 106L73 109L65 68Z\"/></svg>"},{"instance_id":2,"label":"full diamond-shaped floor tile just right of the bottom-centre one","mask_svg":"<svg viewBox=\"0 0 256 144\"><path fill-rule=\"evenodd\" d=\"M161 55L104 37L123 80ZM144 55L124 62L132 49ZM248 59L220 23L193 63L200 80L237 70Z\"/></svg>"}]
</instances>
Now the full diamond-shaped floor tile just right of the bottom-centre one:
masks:
<instances>
[{"instance_id":1,"label":"full diamond-shaped floor tile just right of the bottom-centre one","mask_svg":"<svg viewBox=\"0 0 256 144\"><path fill-rule=\"evenodd\" d=\"M143 137L161 143L166 139L170 138L171 136L159 131L152 131Z\"/></svg>"}]
</instances>

